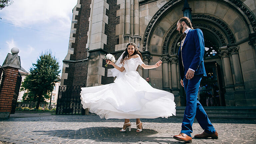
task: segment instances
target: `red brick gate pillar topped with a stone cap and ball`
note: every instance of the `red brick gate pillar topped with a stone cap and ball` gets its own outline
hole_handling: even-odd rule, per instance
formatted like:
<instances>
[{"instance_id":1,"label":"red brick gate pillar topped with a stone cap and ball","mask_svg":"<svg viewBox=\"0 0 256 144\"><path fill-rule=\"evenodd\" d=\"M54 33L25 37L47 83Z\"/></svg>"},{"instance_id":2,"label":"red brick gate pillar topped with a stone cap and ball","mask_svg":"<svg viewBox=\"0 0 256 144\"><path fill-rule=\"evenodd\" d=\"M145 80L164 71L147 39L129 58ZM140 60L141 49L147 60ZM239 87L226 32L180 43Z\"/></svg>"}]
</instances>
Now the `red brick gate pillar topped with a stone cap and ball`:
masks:
<instances>
[{"instance_id":1,"label":"red brick gate pillar topped with a stone cap and ball","mask_svg":"<svg viewBox=\"0 0 256 144\"><path fill-rule=\"evenodd\" d=\"M2 66L4 70L0 89L0 118L10 117L18 70L21 68L19 49L12 48L11 52L12 54L7 54Z\"/></svg>"}]
</instances>

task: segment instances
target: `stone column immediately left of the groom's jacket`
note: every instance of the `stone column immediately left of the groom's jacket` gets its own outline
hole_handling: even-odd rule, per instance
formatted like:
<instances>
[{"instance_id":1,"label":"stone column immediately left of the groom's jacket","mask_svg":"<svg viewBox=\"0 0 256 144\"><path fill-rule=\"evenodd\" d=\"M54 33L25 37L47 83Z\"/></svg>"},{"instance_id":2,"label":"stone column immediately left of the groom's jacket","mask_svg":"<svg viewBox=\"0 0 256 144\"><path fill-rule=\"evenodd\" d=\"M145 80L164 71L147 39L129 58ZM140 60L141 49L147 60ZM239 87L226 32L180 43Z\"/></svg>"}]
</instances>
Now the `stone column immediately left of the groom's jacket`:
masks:
<instances>
[{"instance_id":1,"label":"stone column immediately left of the groom's jacket","mask_svg":"<svg viewBox=\"0 0 256 144\"><path fill-rule=\"evenodd\" d=\"M171 70L172 70L172 93L174 94L174 101L176 106L181 106L181 98L179 95L178 83L177 83L177 63L178 63L178 56L171 55Z\"/></svg>"}]
</instances>

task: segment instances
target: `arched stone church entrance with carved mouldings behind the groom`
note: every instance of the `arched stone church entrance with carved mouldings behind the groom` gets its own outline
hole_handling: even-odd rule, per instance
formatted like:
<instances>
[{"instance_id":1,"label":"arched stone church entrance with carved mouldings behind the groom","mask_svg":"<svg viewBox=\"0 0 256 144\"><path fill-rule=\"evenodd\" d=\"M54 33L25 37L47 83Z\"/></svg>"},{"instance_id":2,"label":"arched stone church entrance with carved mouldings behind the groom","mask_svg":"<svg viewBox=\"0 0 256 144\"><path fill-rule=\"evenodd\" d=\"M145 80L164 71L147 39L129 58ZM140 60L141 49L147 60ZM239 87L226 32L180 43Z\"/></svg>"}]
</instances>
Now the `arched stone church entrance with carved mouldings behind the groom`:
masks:
<instances>
[{"instance_id":1,"label":"arched stone church entrance with carved mouldings behind the groom","mask_svg":"<svg viewBox=\"0 0 256 144\"><path fill-rule=\"evenodd\" d=\"M193 27L200 28L205 38L204 59L209 76L202 80L208 85L208 88L205 87L202 92L217 97L215 103L210 101L210 105L239 105L240 101L234 99L236 94L234 89L243 92L238 49L239 45L246 41L248 34L255 31L253 24L255 17L251 16L250 19L245 17L245 12L239 10L240 6L235 7L233 1L188 2L192 7ZM176 31L176 23L183 16L182 6L182 0L167 2L152 17L142 39L142 50L153 56L153 60L159 57L163 61L161 86L164 90L174 93L177 106L184 106L186 103L177 64L177 43L181 40L180 34ZM205 99L203 103L205 105L208 103L210 106L207 98L209 96L203 97ZM208 99L207 103L206 99ZM239 97L239 99L244 98Z\"/></svg>"}]
</instances>

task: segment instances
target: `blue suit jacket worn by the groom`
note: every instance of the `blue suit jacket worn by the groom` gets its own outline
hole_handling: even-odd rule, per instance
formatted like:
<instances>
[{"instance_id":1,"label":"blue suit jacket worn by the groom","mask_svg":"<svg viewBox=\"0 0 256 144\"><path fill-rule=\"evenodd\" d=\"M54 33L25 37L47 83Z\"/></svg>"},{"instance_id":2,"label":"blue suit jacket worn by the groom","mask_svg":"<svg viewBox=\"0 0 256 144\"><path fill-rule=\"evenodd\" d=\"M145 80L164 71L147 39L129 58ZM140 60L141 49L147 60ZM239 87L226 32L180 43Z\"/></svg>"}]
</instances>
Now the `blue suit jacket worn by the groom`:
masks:
<instances>
[{"instance_id":1,"label":"blue suit jacket worn by the groom","mask_svg":"<svg viewBox=\"0 0 256 144\"><path fill-rule=\"evenodd\" d=\"M203 32L200 29L190 29L185 38L182 51L181 45L179 48L179 67L180 67L180 76L183 80L188 69L191 68L195 70L194 75L206 76L206 71L204 68L204 36ZM183 58L183 65L182 59Z\"/></svg>"}]
</instances>

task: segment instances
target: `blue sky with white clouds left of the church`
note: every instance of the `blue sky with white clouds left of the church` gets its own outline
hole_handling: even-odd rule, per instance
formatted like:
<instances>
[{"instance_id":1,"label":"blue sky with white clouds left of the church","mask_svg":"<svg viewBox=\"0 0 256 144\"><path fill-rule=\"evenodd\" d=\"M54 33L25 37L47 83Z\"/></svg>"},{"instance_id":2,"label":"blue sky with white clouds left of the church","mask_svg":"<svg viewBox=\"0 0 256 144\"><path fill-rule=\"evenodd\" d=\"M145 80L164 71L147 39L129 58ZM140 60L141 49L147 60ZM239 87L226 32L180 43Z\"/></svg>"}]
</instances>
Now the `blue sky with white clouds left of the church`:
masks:
<instances>
[{"instance_id":1,"label":"blue sky with white clouds left of the church","mask_svg":"<svg viewBox=\"0 0 256 144\"><path fill-rule=\"evenodd\" d=\"M14 0L12 5L0 10L0 65L11 48L17 47L25 70L29 71L46 50L52 51L62 70L62 60L68 51L72 9L76 4L77 0Z\"/></svg>"}]
</instances>

